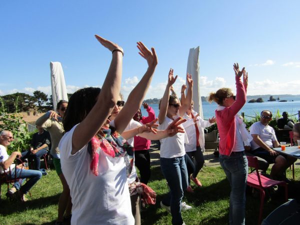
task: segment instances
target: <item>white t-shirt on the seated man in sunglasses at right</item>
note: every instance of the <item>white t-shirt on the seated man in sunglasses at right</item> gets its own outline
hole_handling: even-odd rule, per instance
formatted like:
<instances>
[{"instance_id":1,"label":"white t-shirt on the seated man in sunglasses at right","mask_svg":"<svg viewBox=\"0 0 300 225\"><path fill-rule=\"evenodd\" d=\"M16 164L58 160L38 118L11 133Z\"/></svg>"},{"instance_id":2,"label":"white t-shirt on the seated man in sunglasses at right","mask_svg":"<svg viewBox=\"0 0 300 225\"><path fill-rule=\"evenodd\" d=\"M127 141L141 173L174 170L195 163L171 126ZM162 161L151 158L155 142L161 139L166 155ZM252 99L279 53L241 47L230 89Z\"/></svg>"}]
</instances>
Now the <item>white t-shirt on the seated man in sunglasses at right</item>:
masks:
<instances>
[{"instance_id":1,"label":"white t-shirt on the seated man in sunglasses at right","mask_svg":"<svg viewBox=\"0 0 300 225\"><path fill-rule=\"evenodd\" d=\"M258 134L259 138L269 147L273 147L274 140L277 140L273 127L263 125L260 121L254 122L250 128L250 134ZM251 141L251 148L254 150L259 145L254 140Z\"/></svg>"}]
</instances>

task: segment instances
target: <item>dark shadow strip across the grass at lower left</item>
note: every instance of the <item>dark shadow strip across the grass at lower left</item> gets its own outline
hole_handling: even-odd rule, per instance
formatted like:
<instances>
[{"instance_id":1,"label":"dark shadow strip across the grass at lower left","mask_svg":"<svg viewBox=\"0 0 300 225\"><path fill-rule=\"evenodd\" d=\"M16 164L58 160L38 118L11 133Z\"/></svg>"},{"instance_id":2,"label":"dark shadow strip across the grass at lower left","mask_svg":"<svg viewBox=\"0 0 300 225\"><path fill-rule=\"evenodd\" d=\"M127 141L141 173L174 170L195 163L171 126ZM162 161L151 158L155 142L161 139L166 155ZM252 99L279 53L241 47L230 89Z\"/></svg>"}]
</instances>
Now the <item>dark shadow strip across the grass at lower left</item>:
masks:
<instances>
[{"instance_id":1,"label":"dark shadow strip across the grass at lower left","mask_svg":"<svg viewBox=\"0 0 300 225\"><path fill-rule=\"evenodd\" d=\"M8 198L1 200L0 213L3 215L9 215L15 212L23 212L30 209L43 208L51 204L57 204L60 193L52 196L41 197L38 199L28 200L20 203L19 201L10 201Z\"/></svg>"}]
</instances>

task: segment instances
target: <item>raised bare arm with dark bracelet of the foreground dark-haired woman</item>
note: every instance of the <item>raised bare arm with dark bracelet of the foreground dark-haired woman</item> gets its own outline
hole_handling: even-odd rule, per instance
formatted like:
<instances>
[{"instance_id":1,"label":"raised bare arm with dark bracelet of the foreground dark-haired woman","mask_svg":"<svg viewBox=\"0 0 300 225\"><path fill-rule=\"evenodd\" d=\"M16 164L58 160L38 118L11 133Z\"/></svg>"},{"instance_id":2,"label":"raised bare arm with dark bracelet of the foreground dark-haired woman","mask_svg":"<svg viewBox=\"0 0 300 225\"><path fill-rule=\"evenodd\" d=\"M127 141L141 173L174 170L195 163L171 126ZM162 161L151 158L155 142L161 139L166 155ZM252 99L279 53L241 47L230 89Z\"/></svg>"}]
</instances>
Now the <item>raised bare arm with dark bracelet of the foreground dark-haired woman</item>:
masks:
<instances>
[{"instance_id":1,"label":"raised bare arm with dark bracelet of the foreground dark-haired woman","mask_svg":"<svg viewBox=\"0 0 300 225\"><path fill-rule=\"evenodd\" d=\"M72 154L81 149L98 132L115 106L120 92L123 49L98 35L95 37L112 52L112 59L95 105L73 132Z\"/></svg>"}]
</instances>

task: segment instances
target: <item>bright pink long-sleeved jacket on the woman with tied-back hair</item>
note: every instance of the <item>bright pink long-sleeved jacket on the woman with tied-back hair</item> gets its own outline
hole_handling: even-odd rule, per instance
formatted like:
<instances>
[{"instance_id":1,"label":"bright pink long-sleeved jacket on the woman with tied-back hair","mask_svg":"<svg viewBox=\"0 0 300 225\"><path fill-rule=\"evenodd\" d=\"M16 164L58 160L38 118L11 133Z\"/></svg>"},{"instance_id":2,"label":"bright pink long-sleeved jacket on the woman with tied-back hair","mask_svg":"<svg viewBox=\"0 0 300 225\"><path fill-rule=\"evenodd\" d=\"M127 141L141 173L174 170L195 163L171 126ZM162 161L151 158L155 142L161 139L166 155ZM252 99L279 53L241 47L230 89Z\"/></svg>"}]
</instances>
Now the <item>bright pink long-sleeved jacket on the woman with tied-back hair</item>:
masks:
<instances>
[{"instance_id":1,"label":"bright pink long-sleeved jacket on the woman with tied-back hair","mask_svg":"<svg viewBox=\"0 0 300 225\"><path fill-rule=\"evenodd\" d=\"M230 155L235 141L235 114L246 102L247 86L244 86L239 76L235 76L236 100L223 110L215 110L216 124L220 136L220 154Z\"/></svg>"}]
</instances>

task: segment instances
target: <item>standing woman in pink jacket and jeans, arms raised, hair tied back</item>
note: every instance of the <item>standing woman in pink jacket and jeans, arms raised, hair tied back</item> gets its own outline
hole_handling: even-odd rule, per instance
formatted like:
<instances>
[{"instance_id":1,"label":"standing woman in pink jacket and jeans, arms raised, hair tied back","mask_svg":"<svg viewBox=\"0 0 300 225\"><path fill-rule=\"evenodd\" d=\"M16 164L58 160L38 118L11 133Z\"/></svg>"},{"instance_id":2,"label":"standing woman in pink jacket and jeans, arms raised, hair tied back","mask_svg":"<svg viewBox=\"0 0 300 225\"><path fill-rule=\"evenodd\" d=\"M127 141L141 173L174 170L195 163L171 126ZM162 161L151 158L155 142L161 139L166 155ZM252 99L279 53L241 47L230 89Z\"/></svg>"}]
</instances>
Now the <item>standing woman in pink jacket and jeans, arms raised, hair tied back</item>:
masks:
<instances>
[{"instance_id":1,"label":"standing woman in pink jacket and jeans, arms raised, hair tied back","mask_svg":"<svg viewBox=\"0 0 300 225\"><path fill-rule=\"evenodd\" d=\"M229 204L229 224L245 222L245 189L248 162L244 152L243 137L240 132L237 112L246 102L248 74L244 67L239 71L234 63L236 97L230 88L220 88L209 94L208 101L215 101L216 124L219 131L219 161L231 186ZM243 82L241 82L243 75Z\"/></svg>"}]
</instances>

